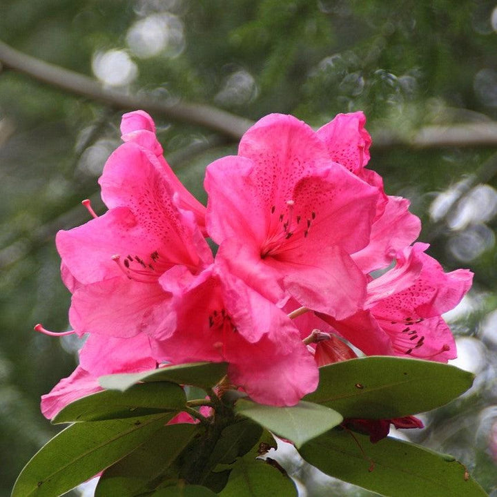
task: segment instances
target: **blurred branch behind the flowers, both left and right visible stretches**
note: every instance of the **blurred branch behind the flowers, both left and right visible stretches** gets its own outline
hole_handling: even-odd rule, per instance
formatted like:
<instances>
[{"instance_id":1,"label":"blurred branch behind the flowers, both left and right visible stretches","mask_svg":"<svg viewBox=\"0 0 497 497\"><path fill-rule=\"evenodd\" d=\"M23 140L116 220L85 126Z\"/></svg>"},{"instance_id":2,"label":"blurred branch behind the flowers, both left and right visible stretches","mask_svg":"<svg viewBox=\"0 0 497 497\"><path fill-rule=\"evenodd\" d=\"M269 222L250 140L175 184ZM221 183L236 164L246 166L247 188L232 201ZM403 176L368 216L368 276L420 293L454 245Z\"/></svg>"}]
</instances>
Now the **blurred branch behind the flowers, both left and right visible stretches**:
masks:
<instances>
[{"instance_id":1,"label":"blurred branch behind the flowers, both left and right visible stretches","mask_svg":"<svg viewBox=\"0 0 497 497\"><path fill-rule=\"evenodd\" d=\"M119 110L141 108L170 121L203 126L220 135L238 141L253 122L213 106L179 102L168 104L150 97L126 95L119 90L105 88L98 81L68 69L48 64L35 57L14 50L0 41L0 63L6 68L23 72L37 81L61 90L99 101ZM375 150L395 147L445 148L445 147L497 147L497 123L494 121L426 126L413 137L405 137L391 130L373 133Z\"/></svg>"}]
</instances>

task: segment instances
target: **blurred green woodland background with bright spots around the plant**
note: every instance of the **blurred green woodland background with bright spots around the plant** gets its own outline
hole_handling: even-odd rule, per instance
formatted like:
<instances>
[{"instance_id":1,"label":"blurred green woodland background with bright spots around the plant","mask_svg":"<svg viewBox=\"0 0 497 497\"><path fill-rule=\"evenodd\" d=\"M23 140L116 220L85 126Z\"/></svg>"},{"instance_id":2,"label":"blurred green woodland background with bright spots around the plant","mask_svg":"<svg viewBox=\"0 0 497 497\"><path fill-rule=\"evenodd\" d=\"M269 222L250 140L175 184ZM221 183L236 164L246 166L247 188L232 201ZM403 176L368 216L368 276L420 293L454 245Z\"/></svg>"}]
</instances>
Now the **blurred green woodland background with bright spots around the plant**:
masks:
<instances>
[{"instance_id":1,"label":"blurred green woodland background with bright spots around the plant","mask_svg":"<svg viewBox=\"0 0 497 497\"><path fill-rule=\"evenodd\" d=\"M495 0L1 0L0 41L1 497L55 433L39 397L77 360L76 340L32 331L68 328L55 233L89 219L81 199L104 211L97 178L134 108L203 201L246 119L364 110L387 193L411 200L447 271L475 273L446 316L475 385L399 436L497 496ZM302 496L369 495L286 457Z\"/></svg>"}]
</instances>

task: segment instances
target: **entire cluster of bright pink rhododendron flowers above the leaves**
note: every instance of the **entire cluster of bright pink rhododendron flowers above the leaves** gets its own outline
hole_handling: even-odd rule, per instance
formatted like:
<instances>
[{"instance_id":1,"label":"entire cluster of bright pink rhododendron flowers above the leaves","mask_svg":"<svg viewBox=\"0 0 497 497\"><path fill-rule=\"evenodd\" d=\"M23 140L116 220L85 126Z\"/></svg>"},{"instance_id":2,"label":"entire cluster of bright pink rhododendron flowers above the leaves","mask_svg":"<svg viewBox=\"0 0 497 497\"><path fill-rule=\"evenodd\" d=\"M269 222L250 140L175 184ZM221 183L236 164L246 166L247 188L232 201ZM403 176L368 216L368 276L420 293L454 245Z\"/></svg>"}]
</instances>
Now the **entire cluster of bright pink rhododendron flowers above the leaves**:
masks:
<instances>
[{"instance_id":1,"label":"entire cluster of bright pink rhododendron flowers above the leaves","mask_svg":"<svg viewBox=\"0 0 497 497\"><path fill-rule=\"evenodd\" d=\"M441 315L471 273L445 273L414 243L409 202L367 168L364 124L360 112L318 131L289 115L260 119L237 155L206 168L205 207L162 157L150 116L124 115L125 143L99 179L108 211L57 234L70 324L88 339L43 413L98 391L101 375L169 364L227 362L233 387L290 406L329 362L455 358Z\"/></svg>"}]
</instances>

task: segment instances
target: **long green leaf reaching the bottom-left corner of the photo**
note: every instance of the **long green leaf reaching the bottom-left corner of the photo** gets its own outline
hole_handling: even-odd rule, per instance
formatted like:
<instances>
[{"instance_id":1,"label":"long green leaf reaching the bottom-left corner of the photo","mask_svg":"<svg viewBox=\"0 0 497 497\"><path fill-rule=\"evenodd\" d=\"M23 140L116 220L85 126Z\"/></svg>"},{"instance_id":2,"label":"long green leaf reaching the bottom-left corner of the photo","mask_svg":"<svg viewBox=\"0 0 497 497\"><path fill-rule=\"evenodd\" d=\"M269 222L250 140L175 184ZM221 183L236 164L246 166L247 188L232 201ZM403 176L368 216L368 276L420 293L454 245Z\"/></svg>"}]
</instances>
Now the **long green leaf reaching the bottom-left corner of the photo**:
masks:
<instances>
[{"instance_id":1,"label":"long green leaf reaching the bottom-left corner of the photo","mask_svg":"<svg viewBox=\"0 0 497 497\"><path fill-rule=\"evenodd\" d=\"M11 497L56 497L133 451L174 413L79 422L42 447L21 471Z\"/></svg>"}]
</instances>

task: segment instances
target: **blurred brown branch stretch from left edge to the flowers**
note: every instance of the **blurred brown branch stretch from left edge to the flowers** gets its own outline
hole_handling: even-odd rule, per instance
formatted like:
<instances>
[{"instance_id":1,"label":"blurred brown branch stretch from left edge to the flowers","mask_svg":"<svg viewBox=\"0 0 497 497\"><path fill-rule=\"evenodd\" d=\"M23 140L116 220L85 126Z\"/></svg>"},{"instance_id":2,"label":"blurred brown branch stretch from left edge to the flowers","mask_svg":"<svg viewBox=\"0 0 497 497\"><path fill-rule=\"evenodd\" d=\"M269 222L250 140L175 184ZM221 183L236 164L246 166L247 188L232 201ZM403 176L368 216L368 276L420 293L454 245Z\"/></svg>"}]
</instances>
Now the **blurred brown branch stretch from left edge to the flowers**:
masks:
<instances>
[{"instance_id":1,"label":"blurred brown branch stretch from left edge to the flowers","mask_svg":"<svg viewBox=\"0 0 497 497\"><path fill-rule=\"evenodd\" d=\"M215 107L185 102L168 104L164 101L150 99L150 97L126 95L118 90L104 88L95 79L30 57L14 50L2 41L0 41L0 62L5 68L23 72L37 81L75 95L100 101L112 108L121 110L141 108L150 114L162 115L171 121L203 126L234 140L240 139L252 125L249 119Z\"/></svg>"}]
</instances>

